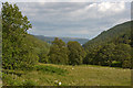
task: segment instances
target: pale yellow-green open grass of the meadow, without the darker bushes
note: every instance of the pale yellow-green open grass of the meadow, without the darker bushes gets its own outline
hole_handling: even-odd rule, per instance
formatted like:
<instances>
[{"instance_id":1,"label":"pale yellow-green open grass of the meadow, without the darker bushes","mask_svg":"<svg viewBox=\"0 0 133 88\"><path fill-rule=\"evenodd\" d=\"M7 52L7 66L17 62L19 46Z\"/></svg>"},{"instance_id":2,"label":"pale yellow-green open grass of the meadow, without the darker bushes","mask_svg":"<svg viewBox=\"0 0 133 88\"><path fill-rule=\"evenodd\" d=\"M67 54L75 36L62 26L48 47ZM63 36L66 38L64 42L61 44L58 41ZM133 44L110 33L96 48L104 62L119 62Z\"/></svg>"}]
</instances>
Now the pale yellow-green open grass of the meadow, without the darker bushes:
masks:
<instances>
[{"instance_id":1,"label":"pale yellow-green open grass of the meadow, without the darker bushes","mask_svg":"<svg viewBox=\"0 0 133 88\"><path fill-rule=\"evenodd\" d=\"M54 86L59 80L63 86L129 86L131 85L131 70L113 67L102 67L92 65L65 66L53 64L39 64L66 69L69 74L62 76L58 74L48 74L42 72L28 72L25 75L18 77L31 79L39 86Z\"/></svg>"}]
</instances>

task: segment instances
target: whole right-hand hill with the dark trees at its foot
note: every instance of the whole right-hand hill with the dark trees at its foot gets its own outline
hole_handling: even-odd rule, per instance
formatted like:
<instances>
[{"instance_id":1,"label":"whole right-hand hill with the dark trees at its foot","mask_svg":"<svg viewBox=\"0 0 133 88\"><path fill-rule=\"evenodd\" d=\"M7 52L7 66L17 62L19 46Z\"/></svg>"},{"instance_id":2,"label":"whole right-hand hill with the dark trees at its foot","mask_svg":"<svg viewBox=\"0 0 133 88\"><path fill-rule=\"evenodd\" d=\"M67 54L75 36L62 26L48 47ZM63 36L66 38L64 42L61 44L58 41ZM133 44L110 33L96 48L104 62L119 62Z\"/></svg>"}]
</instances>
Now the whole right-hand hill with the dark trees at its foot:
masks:
<instances>
[{"instance_id":1,"label":"whole right-hand hill with the dark trees at its foot","mask_svg":"<svg viewBox=\"0 0 133 88\"><path fill-rule=\"evenodd\" d=\"M116 25L88 42L84 45L88 52L84 64L132 68L131 23Z\"/></svg>"}]
</instances>

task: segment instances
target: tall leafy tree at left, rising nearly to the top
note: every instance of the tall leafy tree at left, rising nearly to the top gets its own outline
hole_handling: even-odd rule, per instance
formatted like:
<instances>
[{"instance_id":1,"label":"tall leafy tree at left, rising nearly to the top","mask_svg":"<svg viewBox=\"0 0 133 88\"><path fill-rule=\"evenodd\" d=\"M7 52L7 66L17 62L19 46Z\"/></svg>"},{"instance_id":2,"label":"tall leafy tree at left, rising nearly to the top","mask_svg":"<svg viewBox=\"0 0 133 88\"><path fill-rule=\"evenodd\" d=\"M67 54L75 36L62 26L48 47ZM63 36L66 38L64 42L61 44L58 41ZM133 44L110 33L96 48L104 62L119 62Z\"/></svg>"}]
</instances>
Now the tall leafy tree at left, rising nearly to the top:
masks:
<instances>
[{"instance_id":1,"label":"tall leafy tree at left, rising nearly to the top","mask_svg":"<svg viewBox=\"0 0 133 88\"><path fill-rule=\"evenodd\" d=\"M2 67L8 69L29 68L38 56L32 44L25 41L27 30L32 25L17 4L2 3Z\"/></svg>"}]
</instances>

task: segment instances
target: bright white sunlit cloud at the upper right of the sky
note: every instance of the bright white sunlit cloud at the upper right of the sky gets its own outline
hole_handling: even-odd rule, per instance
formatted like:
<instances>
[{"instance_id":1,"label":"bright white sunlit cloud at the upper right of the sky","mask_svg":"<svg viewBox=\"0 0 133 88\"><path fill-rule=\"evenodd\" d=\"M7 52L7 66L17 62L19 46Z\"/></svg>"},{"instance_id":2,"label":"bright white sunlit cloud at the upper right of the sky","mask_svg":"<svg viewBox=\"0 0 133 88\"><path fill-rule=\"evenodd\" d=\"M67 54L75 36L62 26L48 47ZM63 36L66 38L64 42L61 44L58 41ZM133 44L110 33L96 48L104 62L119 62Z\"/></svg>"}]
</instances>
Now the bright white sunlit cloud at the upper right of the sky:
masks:
<instances>
[{"instance_id":1,"label":"bright white sunlit cloud at the upper right of the sky","mask_svg":"<svg viewBox=\"0 0 133 88\"><path fill-rule=\"evenodd\" d=\"M125 2L101 2L88 4L84 8L71 12L71 15L73 15L73 18L83 15L82 19L101 19L104 16L120 14L125 10Z\"/></svg>"}]
</instances>

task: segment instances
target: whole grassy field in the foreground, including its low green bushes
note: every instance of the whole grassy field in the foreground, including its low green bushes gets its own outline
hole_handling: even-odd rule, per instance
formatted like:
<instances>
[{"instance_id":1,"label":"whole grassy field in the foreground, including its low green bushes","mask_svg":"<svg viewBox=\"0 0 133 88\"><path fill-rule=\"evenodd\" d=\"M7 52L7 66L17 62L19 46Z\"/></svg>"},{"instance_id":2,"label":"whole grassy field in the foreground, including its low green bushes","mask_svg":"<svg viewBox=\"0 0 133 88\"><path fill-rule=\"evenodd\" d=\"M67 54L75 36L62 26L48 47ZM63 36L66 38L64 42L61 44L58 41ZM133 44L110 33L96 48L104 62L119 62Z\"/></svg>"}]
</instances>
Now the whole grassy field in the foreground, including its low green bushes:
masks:
<instances>
[{"instance_id":1,"label":"whole grassy field in the foreground, including its low green bushes","mask_svg":"<svg viewBox=\"0 0 133 88\"><path fill-rule=\"evenodd\" d=\"M39 85L55 86L130 86L131 70L102 67L92 65L66 66L53 64L39 64L38 70L24 72L21 76L8 74L4 75L4 85ZM43 69L42 67L48 67ZM42 72L44 70L44 72ZM48 73L45 73L48 72Z\"/></svg>"}]
</instances>

